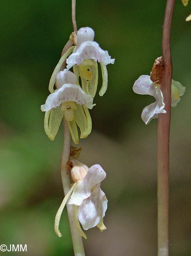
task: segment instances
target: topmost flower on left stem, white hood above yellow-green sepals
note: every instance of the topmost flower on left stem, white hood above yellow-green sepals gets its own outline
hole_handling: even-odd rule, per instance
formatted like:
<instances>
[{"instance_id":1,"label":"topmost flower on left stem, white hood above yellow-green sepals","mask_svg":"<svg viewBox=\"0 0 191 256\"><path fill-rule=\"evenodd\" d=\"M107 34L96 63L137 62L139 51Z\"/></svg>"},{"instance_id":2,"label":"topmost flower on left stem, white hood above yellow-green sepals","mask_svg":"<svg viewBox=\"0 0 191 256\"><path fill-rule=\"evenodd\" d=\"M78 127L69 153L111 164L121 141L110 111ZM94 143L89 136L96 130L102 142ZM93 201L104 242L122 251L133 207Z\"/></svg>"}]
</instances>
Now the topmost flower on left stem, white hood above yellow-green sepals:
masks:
<instances>
[{"instance_id":1,"label":"topmost flower on left stem, white hood above yellow-green sepals","mask_svg":"<svg viewBox=\"0 0 191 256\"><path fill-rule=\"evenodd\" d=\"M54 91L53 87L54 83L56 82L56 75L59 72L63 62L70 55L66 60L66 69L69 70L73 67L73 71L77 77L77 80L79 81L79 76L81 78L83 91L87 94L91 94L93 98L96 94L98 85L97 62L100 63L103 82L99 95L104 95L108 86L108 72L106 65L109 63L113 64L115 59L111 59L108 51L102 50L98 43L93 41L94 35L95 33L93 29L89 27L80 28L78 30L77 39L74 38L74 43L77 41L76 46L71 46L69 50L67 50L67 52L61 57L59 63L54 69L49 84L49 91L51 93Z\"/></svg>"}]
</instances>

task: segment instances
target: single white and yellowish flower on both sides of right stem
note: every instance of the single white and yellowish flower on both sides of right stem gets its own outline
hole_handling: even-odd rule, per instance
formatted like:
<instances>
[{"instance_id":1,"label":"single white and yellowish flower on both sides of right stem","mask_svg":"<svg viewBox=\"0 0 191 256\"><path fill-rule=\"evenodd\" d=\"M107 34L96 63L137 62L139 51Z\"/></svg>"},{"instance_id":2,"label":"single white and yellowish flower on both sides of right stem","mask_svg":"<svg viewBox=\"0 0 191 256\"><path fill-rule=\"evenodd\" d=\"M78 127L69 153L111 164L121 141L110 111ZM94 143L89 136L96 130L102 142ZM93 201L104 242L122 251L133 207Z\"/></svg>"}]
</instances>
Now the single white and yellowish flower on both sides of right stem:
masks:
<instances>
[{"instance_id":1,"label":"single white and yellowish flower on both sides of right stem","mask_svg":"<svg viewBox=\"0 0 191 256\"><path fill-rule=\"evenodd\" d=\"M159 113L166 113L163 93L160 89L160 84L150 80L150 76L142 75L135 81L133 91L141 95L151 95L156 98L156 102L146 106L141 114L141 118L145 124L148 124L152 119L158 118ZM181 83L172 80L171 88L171 107L175 107L180 101L180 96L185 92L185 87Z\"/></svg>"}]
</instances>

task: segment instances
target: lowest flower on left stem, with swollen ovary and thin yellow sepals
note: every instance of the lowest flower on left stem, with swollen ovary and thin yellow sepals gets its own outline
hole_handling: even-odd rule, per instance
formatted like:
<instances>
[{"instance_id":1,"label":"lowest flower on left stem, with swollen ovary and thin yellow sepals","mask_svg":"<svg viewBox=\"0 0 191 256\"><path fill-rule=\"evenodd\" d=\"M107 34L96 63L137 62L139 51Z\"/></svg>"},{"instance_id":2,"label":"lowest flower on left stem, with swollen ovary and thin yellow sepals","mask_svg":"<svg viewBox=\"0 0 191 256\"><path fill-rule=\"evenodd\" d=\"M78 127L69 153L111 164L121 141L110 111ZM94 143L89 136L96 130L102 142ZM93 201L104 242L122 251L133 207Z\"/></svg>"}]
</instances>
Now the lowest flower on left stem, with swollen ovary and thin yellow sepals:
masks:
<instances>
[{"instance_id":1,"label":"lowest flower on left stem, with swollen ovary and thin yellow sepals","mask_svg":"<svg viewBox=\"0 0 191 256\"><path fill-rule=\"evenodd\" d=\"M106 178L106 173L98 164L88 168L76 159L71 159L69 164L73 166L71 177L75 183L70 188L57 211L54 229L56 234L61 237L59 221L65 204L70 198L68 204L74 205L76 228L81 236L87 238L80 227L80 223L84 230L95 226L101 232L106 229L103 218L107 210L108 200L100 189L100 182Z\"/></svg>"}]
</instances>

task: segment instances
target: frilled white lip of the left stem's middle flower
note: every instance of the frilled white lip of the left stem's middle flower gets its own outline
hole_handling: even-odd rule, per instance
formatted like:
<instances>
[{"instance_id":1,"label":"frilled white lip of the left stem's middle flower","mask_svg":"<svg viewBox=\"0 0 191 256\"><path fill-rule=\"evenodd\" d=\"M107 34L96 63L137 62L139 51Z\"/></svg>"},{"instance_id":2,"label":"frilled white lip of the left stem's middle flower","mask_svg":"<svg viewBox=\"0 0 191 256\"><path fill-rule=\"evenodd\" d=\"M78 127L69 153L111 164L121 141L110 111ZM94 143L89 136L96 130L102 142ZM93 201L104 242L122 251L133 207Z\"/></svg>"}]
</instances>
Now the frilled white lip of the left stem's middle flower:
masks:
<instances>
[{"instance_id":1,"label":"frilled white lip of the left stem's middle flower","mask_svg":"<svg viewBox=\"0 0 191 256\"><path fill-rule=\"evenodd\" d=\"M74 101L77 104L84 104L93 108L93 98L91 95L84 93L82 88L78 85L66 83L61 88L57 89L54 93L51 93L44 105L41 105L42 111L48 111L52 108L57 108L61 103L65 101Z\"/></svg>"}]
</instances>

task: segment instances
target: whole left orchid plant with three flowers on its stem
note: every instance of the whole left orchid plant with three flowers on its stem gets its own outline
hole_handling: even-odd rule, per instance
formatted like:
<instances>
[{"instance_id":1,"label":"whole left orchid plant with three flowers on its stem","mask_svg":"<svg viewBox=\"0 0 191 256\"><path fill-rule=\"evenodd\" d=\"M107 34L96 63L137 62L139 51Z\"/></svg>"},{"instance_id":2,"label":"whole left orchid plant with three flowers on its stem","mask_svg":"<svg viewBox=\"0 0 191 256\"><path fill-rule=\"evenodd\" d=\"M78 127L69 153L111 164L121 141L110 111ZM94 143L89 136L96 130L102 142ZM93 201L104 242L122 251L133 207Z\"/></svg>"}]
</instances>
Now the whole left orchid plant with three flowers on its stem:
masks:
<instances>
[{"instance_id":1,"label":"whole left orchid plant with three flowers on its stem","mask_svg":"<svg viewBox=\"0 0 191 256\"><path fill-rule=\"evenodd\" d=\"M72 4L74 2L72 1ZM74 11L73 7L72 11ZM93 98L98 85L97 62L100 63L102 70L103 82L99 92L102 96L108 86L106 65L113 64L115 59L111 59L108 51L102 50L94 41L95 33L92 28L85 27L77 31L73 14L74 32L63 48L61 59L50 78L48 87L50 95L45 104L41 105L41 111L45 111L44 126L49 139L54 140L61 121L64 128L61 176L65 197L56 214L55 232L61 237L59 221L67 205L74 254L85 256L82 237L86 239L87 237L80 224L84 230L95 226L101 232L106 229L103 218L108 200L100 189L100 182L104 180L106 173L98 164L88 168L80 163L77 158L81 149L71 146L71 138L75 144L78 144L77 126L80 128L80 138L86 138L90 134L92 122L89 109L96 105L93 104ZM70 71L71 68L73 72Z\"/></svg>"}]
</instances>

